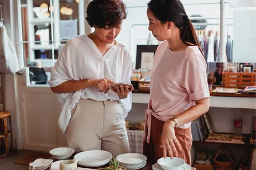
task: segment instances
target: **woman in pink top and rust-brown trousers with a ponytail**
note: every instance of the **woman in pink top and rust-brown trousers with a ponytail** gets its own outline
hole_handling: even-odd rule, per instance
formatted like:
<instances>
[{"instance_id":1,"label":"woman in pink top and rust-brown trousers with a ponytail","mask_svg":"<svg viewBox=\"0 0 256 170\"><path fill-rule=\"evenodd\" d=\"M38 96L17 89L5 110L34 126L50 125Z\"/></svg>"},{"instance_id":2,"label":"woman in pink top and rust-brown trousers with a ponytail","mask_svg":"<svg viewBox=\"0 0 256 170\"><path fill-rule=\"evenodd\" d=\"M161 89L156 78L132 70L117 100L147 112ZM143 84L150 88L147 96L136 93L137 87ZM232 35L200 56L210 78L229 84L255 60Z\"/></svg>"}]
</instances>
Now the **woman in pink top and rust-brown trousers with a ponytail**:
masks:
<instances>
[{"instance_id":1,"label":"woman in pink top and rust-brown trousers with a ponytail","mask_svg":"<svg viewBox=\"0 0 256 170\"><path fill-rule=\"evenodd\" d=\"M147 15L148 29L164 42L154 56L143 153L152 163L169 155L190 164L191 121L209 109L206 61L179 0L151 0Z\"/></svg>"}]
</instances>

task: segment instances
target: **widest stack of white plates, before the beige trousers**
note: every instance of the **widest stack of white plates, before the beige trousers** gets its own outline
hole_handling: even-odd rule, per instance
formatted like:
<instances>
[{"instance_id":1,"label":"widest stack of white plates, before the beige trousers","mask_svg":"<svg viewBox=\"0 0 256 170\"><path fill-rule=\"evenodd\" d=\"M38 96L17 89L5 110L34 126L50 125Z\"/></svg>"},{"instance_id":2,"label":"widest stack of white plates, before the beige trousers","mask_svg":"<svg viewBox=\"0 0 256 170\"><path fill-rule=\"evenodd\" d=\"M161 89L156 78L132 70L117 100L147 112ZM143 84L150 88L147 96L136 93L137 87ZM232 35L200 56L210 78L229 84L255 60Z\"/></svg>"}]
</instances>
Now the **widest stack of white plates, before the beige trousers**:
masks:
<instances>
[{"instance_id":1,"label":"widest stack of white plates, before the beige trousers","mask_svg":"<svg viewBox=\"0 0 256 170\"><path fill-rule=\"evenodd\" d=\"M77 153L74 159L82 167L101 167L111 161L112 154L107 151L92 150Z\"/></svg>"}]
</instances>

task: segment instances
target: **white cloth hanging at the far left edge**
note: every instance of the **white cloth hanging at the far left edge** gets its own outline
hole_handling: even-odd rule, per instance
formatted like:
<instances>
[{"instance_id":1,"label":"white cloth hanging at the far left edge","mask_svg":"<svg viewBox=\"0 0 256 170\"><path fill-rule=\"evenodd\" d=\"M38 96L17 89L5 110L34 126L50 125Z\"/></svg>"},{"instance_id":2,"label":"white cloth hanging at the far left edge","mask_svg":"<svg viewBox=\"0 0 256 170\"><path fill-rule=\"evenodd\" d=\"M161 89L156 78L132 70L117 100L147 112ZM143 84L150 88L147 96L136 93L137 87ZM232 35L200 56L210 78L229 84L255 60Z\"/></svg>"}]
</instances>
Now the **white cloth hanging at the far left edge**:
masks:
<instances>
[{"instance_id":1,"label":"white cloth hanging at the far left edge","mask_svg":"<svg viewBox=\"0 0 256 170\"><path fill-rule=\"evenodd\" d=\"M11 38L9 38L6 26L0 28L0 73L15 73L19 71L18 57Z\"/></svg>"}]
</instances>

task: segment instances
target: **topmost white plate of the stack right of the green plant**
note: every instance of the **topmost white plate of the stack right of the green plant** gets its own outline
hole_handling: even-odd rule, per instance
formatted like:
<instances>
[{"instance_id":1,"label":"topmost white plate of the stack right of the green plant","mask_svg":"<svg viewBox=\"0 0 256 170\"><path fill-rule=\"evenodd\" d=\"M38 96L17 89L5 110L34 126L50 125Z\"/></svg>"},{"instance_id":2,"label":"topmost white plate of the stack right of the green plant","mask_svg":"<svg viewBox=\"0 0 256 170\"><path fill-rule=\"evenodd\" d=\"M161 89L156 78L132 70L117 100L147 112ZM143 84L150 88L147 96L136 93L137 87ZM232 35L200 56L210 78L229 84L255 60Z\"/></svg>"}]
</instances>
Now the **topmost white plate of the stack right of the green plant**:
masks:
<instances>
[{"instance_id":1,"label":"topmost white plate of the stack right of the green plant","mask_svg":"<svg viewBox=\"0 0 256 170\"><path fill-rule=\"evenodd\" d=\"M140 153L124 153L117 156L117 161L122 164L140 164L147 161L147 157Z\"/></svg>"}]
</instances>

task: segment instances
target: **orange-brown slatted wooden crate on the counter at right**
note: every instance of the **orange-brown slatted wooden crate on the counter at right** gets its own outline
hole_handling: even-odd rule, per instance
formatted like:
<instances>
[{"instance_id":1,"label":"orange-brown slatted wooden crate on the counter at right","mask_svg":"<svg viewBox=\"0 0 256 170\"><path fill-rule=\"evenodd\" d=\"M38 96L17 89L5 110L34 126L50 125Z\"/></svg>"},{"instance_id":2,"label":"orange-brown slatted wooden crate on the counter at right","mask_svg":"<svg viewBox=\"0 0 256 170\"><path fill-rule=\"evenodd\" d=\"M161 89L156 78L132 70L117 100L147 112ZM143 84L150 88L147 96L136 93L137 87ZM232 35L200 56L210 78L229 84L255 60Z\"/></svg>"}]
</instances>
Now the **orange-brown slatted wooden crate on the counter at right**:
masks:
<instances>
[{"instance_id":1,"label":"orange-brown slatted wooden crate on the counter at right","mask_svg":"<svg viewBox=\"0 0 256 170\"><path fill-rule=\"evenodd\" d=\"M233 73L222 72L222 83L224 87L245 88L256 85L256 73Z\"/></svg>"}]
</instances>

